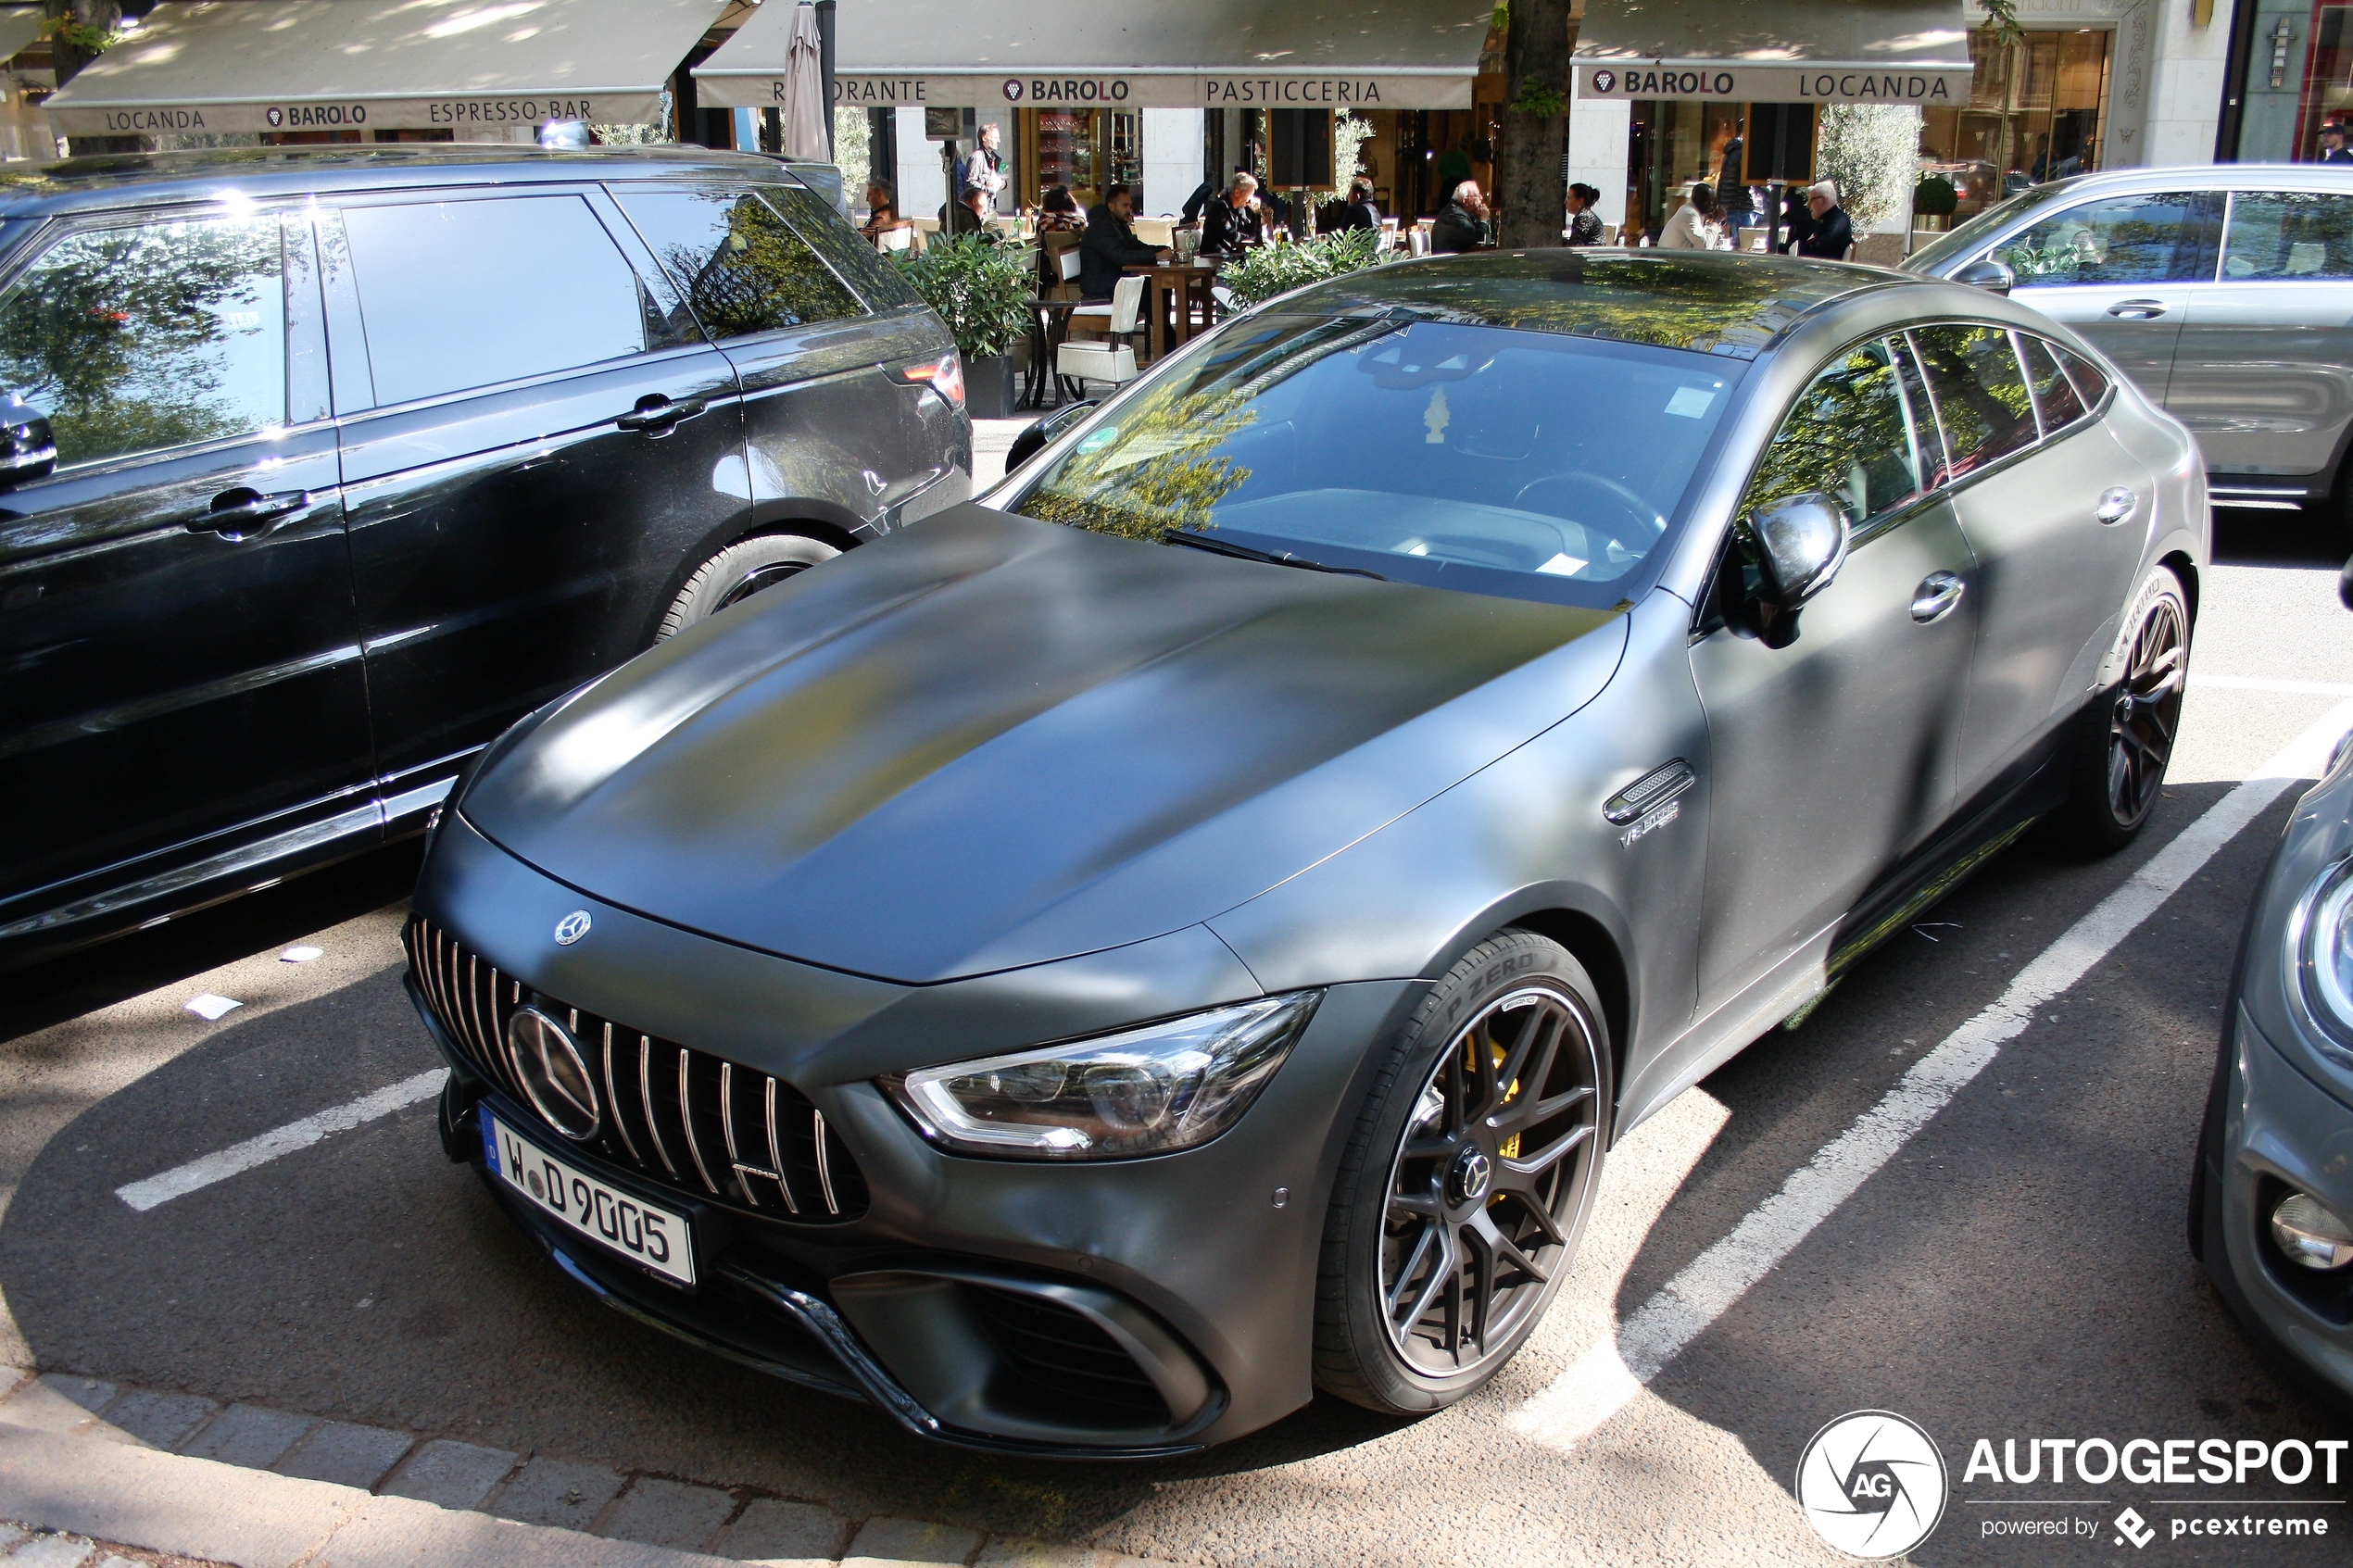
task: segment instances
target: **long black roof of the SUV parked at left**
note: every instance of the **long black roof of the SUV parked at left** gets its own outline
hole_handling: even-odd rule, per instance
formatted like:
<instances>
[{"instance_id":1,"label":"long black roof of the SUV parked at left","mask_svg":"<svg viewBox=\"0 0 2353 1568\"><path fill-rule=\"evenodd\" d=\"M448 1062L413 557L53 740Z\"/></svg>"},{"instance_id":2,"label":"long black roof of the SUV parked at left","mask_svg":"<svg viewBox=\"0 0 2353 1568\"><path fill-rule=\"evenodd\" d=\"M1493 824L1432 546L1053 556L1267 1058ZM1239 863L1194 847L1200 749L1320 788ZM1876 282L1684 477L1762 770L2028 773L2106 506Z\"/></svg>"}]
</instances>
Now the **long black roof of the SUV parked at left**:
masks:
<instances>
[{"instance_id":1,"label":"long black roof of the SUV parked at left","mask_svg":"<svg viewBox=\"0 0 2353 1568\"><path fill-rule=\"evenodd\" d=\"M496 186L581 179L678 179L732 172L776 179L784 160L696 146L541 150L532 146L299 146L205 148L195 153L99 153L45 165L0 167L0 219L80 207L139 207L216 197L308 195L433 183Z\"/></svg>"}]
</instances>

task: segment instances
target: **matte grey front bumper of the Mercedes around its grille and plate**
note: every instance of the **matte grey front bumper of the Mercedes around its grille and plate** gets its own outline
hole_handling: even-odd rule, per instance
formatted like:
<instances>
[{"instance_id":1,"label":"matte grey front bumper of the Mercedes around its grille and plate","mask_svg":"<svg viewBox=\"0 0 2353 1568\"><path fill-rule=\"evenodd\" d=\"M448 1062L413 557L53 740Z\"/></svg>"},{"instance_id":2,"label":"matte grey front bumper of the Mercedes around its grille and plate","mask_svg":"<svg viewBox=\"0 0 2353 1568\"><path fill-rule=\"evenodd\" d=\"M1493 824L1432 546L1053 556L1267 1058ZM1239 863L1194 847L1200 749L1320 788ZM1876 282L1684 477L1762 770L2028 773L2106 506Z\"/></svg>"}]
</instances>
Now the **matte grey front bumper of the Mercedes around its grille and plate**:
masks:
<instances>
[{"instance_id":1,"label":"matte grey front bumper of the Mercedes around its grille and plate","mask_svg":"<svg viewBox=\"0 0 2353 1568\"><path fill-rule=\"evenodd\" d=\"M555 945L553 926L584 907L593 936ZM932 1147L873 1077L1233 1001L1257 994L1247 971L1214 938L1176 933L1033 971L885 985L588 900L456 813L416 910L464 933L515 997L626 1020L656 1048L692 1041L692 1053L734 1063L739 1079L772 1074L824 1117L819 1140L838 1138L854 1159L864 1201L842 1215L795 1220L774 1204L729 1201L734 1192L706 1201L647 1182L546 1128L485 1070L485 1032L452 1039L428 994L435 983L412 973L419 1016L452 1065L452 1157L482 1164L473 1112L487 1100L616 1190L689 1213L701 1284L680 1291L499 1194L607 1305L765 1373L864 1396L920 1436L993 1450L1165 1455L1311 1399L1332 1171L1372 1044L1402 1025L1417 983L1329 987L1249 1114L1198 1150L1101 1164L962 1159ZM438 992L447 1001L447 980ZM635 1093L626 1077L619 1093Z\"/></svg>"}]
</instances>

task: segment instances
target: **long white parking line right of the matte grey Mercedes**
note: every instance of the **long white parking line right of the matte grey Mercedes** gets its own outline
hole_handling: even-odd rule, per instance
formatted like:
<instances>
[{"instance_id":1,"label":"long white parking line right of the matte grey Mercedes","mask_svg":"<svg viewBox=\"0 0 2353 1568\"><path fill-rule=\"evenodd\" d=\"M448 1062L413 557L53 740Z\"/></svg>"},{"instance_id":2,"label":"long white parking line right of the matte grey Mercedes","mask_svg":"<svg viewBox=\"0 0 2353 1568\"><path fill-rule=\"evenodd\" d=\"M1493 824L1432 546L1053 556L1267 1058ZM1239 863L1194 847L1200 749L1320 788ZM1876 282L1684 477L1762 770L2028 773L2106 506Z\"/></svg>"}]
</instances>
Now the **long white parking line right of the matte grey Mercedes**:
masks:
<instances>
[{"instance_id":1,"label":"long white parking line right of the matte grey Mercedes","mask_svg":"<svg viewBox=\"0 0 2353 1568\"><path fill-rule=\"evenodd\" d=\"M1522 1436L1567 1453L1609 1422L1645 1382L1777 1269L1817 1225L1951 1105L2007 1041L2024 1034L2035 1009L2108 957L2294 780L2318 776L2329 748L2348 729L2353 729L2353 703L2339 703L2174 835L2125 886L2101 898L2089 914L2035 954L1993 1006L1946 1034L1878 1105L1791 1173L1779 1192L1748 1211L1732 1234L1687 1262L1614 1335L1600 1340L1541 1394L1513 1410L1511 1425Z\"/></svg>"}]
</instances>

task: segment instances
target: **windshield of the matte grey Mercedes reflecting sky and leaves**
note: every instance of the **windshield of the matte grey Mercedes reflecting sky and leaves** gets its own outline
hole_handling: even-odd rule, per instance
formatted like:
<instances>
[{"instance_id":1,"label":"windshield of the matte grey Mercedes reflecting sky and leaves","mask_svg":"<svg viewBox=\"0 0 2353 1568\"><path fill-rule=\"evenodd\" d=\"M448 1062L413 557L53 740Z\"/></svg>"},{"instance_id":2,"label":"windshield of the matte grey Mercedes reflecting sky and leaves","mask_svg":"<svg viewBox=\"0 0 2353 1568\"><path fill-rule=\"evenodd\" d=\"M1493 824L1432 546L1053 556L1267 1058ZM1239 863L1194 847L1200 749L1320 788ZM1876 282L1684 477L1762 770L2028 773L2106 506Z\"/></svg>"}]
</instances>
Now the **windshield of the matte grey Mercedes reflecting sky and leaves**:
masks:
<instances>
[{"instance_id":1,"label":"windshield of the matte grey Mercedes reflecting sky and leaves","mask_svg":"<svg viewBox=\"0 0 2353 1568\"><path fill-rule=\"evenodd\" d=\"M1252 317L1111 404L1014 510L1609 607L1671 536L1744 369L1442 320Z\"/></svg>"}]
</instances>

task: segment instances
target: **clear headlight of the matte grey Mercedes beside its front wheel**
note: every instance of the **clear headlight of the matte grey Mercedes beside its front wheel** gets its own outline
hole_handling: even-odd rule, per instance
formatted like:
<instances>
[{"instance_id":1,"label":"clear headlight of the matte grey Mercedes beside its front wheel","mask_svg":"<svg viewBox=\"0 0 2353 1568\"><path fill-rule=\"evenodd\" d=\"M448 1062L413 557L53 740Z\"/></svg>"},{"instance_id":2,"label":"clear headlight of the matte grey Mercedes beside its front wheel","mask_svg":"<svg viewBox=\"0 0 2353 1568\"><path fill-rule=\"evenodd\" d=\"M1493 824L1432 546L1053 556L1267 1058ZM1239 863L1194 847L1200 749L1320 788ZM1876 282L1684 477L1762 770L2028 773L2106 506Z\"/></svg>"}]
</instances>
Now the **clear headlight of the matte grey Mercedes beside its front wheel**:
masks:
<instances>
[{"instance_id":1,"label":"clear headlight of the matte grey Mercedes beside its front wheel","mask_svg":"<svg viewBox=\"0 0 2353 1568\"><path fill-rule=\"evenodd\" d=\"M1127 1159L1209 1143L1259 1098L1322 992L882 1079L958 1154Z\"/></svg>"}]
</instances>

